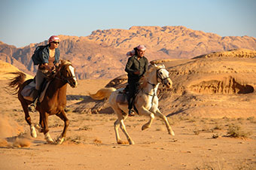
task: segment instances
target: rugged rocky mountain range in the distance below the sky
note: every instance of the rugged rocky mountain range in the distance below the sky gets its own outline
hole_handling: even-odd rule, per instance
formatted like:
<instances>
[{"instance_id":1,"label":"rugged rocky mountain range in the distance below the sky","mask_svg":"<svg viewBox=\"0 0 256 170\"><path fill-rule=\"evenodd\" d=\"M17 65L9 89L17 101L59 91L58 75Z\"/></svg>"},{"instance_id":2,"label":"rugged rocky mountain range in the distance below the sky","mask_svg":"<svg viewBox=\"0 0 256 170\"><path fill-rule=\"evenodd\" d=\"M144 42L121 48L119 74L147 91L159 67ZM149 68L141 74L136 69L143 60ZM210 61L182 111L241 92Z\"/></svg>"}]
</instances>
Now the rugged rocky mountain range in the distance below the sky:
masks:
<instances>
[{"instance_id":1,"label":"rugged rocky mountain range in the distance below the sky","mask_svg":"<svg viewBox=\"0 0 256 170\"><path fill-rule=\"evenodd\" d=\"M145 55L150 61L190 59L234 48L256 50L256 38L221 37L184 26L133 26L130 29L96 30L87 37L59 37L61 58L72 61L80 79L113 78L124 74L126 52L138 44L145 44ZM35 47L41 44L47 44L47 41L23 48L0 42L0 59L28 74L35 74L36 67L32 64L31 56Z\"/></svg>"}]
</instances>

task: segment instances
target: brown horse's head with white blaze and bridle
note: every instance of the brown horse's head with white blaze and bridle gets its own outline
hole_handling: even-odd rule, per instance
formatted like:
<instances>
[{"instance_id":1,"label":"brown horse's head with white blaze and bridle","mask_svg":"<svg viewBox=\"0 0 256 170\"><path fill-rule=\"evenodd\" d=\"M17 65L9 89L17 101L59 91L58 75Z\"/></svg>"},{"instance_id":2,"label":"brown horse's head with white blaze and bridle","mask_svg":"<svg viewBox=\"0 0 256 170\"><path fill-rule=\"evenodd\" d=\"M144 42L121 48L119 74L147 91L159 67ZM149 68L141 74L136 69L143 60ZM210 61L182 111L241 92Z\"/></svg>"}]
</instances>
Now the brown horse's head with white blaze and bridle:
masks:
<instances>
[{"instance_id":1,"label":"brown horse's head with white blaze and bridle","mask_svg":"<svg viewBox=\"0 0 256 170\"><path fill-rule=\"evenodd\" d=\"M75 77L75 68L69 60L60 60L59 74L62 80L66 80L71 87L78 86L78 80Z\"/></svg>"}]
</instances>

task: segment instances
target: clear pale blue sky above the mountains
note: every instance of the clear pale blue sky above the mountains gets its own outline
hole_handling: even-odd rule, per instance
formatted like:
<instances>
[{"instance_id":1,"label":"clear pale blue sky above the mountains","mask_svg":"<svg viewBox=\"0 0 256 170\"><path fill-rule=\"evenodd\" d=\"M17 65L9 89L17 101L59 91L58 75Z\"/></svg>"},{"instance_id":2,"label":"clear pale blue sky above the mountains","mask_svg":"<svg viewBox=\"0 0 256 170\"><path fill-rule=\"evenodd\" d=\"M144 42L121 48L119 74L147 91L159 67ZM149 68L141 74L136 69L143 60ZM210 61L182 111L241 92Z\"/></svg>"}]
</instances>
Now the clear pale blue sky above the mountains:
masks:
<instances>
[{"instance_id":1,"label":"clear pale blue sky above the mountains","mask_svg":"<svg viewBox=\"0 0 256 170\"><path fill-rule=\"evenodd\" d=\"M254 0L1 0L0 41L24 47L50 35L131 26L186 26L256 38L255 9Z\"/></svg>"}]
</instances>

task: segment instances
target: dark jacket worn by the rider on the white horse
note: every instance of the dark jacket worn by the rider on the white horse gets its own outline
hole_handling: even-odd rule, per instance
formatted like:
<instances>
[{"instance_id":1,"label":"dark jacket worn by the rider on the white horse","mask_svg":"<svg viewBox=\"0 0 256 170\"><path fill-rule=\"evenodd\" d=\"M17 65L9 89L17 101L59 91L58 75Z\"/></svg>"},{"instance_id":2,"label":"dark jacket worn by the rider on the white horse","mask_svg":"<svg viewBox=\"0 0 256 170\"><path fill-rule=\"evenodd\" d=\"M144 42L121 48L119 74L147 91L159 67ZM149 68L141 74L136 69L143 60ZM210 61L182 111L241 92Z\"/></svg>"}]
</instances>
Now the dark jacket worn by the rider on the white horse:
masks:
<instances>
[{"instance_id":1,"label":"dark jacket worn by the rider on the white horse","mask_svg":"<svg viewBox=\"0 0 256 170\"><path fill-rule=\"evenodd\" d=\"M128 73L128 80L139 81L140 77L148 71L148 59L143 56L138 60L137 56L131 56L126 63L125 71ZM139 71L139 74L134 74L134 72Z\"/></svg>"}]
</instances>

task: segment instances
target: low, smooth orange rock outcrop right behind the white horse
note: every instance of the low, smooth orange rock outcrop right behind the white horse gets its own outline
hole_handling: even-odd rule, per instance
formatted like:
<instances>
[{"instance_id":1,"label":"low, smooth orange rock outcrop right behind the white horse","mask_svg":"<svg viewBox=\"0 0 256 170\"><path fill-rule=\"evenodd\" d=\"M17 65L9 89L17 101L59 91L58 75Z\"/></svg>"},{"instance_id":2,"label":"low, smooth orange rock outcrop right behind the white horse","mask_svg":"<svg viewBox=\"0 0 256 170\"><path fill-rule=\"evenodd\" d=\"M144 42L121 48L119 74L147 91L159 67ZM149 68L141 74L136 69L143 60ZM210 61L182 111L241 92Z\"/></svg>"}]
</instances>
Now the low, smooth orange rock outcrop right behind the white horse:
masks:
<instances>
[{"instance_id":1,"label":"low, smooth orange rock outcrop right behind the white horse","mask_svg":"<svg viewBox=\"0 0 256 170\"><path fill-rule=\"evenodd\" d=\"M160 86L157 93L163 114L256 117L256 58L200 57L163 59L152 63L165 65L173 82L172 91ZM126 74L123 74L111 80L107 87L120 88L125 85ZM92 105L93 102L95 105ZM87 114L113 113L108 101L95 101L89 96L71 108Z\"/></svg>"}]
</instances>

